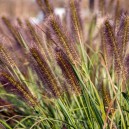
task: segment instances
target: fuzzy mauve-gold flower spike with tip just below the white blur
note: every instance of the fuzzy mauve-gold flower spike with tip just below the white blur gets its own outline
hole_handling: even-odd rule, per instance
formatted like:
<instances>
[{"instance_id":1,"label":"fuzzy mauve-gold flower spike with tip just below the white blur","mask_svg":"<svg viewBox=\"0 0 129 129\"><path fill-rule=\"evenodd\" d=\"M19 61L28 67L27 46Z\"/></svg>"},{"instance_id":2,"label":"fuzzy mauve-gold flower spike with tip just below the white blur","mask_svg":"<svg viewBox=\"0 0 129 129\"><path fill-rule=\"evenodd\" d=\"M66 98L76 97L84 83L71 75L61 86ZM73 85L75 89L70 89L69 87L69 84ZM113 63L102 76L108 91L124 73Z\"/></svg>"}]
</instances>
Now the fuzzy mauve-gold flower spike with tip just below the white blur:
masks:
<instances>
[{"instance_id":1,"label":"fuzzy mauve-gold flower spike with tip just below the white blur","mask_svg":"<svg viewBox=\"0 0 129 129\"><path fill-rule=\"evenodd\" d=\"M78 54L75 50L74 43L71 37L68 35L67 30L61 26L59 20L51 15L46 23L47 29L49 29L52 39L64 49L73 64L80 62ZM75 60L76 58L76 60Z\"/></svg>"}]
</instances>

